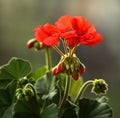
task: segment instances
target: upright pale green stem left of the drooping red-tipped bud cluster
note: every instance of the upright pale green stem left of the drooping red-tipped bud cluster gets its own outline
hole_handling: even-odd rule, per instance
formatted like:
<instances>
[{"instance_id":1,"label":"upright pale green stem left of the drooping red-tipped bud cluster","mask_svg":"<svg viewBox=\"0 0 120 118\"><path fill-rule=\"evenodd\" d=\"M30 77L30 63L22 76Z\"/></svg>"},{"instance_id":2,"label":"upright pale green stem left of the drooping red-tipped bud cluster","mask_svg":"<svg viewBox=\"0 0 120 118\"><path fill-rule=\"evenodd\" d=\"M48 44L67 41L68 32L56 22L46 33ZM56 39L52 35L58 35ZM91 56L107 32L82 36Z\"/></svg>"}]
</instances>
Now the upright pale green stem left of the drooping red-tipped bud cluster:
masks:
<instances>
[{"instance_id":1,"label":"upright pale green stem left of the drooping red-tipped bud cluster","mask_svg":"<svg viewBox=\"0 0 120 118\"><path fill-rule=\"evenodd\" d=\"M49 47L46 47L46 65L49 71L52 70L52 60Z\"/></svg>"}]
</instances>

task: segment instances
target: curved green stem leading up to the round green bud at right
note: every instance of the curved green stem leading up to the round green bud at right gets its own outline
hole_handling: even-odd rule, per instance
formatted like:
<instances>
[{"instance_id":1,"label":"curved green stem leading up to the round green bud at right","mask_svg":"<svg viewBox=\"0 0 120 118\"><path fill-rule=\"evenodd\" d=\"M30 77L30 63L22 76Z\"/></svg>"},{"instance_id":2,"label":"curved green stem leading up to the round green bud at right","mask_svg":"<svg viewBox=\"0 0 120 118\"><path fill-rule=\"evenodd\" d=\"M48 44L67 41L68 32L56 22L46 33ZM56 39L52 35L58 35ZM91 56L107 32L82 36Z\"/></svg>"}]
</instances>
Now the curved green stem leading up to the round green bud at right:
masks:
<instances>
[{"instance_id":1,"label":"curved green stem leading up to the round green bud at right","mask_svg":"<svg viewBox=\"0 0 120 118\"><path fill-rule=\"evenodd\" d=\"M89 86L89 85L92 85L93 84L93 80L89 80L87 82L85 82L82 87L80 88L77 96L75 97L74 99L74 103L77 103L80 99L80 97L82 96L82 94L84 93L84 91L86 90L86 88Z\"/></svg>"}]
</instances>

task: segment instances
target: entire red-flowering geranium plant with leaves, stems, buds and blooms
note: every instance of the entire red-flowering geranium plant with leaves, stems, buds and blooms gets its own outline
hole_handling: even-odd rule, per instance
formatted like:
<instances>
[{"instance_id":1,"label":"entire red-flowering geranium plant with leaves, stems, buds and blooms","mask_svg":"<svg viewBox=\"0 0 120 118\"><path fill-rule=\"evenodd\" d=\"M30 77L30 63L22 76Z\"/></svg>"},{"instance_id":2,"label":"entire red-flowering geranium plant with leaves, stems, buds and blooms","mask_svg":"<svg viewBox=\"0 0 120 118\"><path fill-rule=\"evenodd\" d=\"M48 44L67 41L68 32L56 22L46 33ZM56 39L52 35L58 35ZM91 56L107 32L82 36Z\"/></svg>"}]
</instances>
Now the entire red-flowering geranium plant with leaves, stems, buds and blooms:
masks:
<instances>
[{"instance_id":1,"label":"entire red-flowering geranium plant with leaves, stems, buds and blooms","mask_svg":"<svg viewBox=\"0 0 120 118\"><path fill-rule=\"evenodd\" d=\"M12 58L0 67L0 118L111 118L107 83L101 78L84 82L86 68L75 54L81 45L102 41L94 25L66 15L36 27L34 34L27 47L45 50L46 65L32 71L29 61ZM51 49L61 57L55 67ZM95 99L84 98L88 86Z\"/></svg>"}]
</instances>

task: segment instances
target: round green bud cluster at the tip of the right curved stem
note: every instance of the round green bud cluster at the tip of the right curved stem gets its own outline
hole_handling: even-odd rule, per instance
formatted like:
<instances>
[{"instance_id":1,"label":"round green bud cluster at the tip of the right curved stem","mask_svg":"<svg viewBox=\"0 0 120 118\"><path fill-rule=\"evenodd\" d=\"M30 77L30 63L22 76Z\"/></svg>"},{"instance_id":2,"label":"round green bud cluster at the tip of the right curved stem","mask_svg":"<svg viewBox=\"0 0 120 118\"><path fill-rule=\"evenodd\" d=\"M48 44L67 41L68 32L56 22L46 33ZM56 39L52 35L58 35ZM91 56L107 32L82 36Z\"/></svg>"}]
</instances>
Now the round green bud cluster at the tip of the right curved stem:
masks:
<instances>
[{"instance_id":1,"label":"round green bud cluster at the tip of the right curved stem","mask_svg":"<svg viewBox=\"0 0 120 118\"><path fill-rule=\"evenodd\" d=\"M95 79L93 81L92 93L96 95L106 94L108 85L103 79Z\"/></svg>"}]
</instances>

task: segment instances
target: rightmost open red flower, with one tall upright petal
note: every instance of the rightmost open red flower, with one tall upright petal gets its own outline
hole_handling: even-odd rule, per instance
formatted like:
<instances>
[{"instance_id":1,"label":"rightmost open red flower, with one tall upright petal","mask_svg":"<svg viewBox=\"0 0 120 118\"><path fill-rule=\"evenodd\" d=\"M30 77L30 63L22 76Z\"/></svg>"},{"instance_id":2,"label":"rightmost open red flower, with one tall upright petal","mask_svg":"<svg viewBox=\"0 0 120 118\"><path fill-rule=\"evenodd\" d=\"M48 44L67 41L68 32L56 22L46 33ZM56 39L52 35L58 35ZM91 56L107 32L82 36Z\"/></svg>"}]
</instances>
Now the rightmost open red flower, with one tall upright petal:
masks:
<instances>
[{"instance_id":1,"label":"rightmost open red flower, with one tall upright petal","mask_svg":"<svg viewBox=\"0 0 120 118\"><path fill-rule=\"evenodd\" d=\"M83 17L73 17L71 25L73 31L76 33L71 38L66 37L67 43L70 47L74 47L76 44L93 46L102 41L102 36L96 32L94 25L89 25L89 21Z\"/></svg>"}]
</instances>

